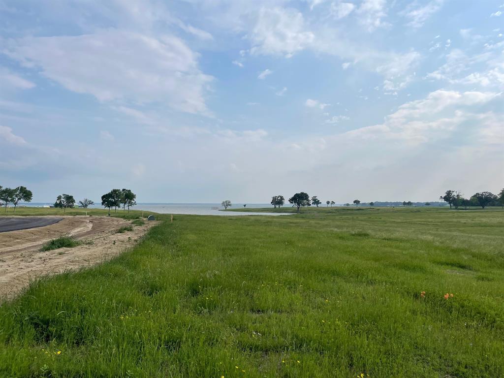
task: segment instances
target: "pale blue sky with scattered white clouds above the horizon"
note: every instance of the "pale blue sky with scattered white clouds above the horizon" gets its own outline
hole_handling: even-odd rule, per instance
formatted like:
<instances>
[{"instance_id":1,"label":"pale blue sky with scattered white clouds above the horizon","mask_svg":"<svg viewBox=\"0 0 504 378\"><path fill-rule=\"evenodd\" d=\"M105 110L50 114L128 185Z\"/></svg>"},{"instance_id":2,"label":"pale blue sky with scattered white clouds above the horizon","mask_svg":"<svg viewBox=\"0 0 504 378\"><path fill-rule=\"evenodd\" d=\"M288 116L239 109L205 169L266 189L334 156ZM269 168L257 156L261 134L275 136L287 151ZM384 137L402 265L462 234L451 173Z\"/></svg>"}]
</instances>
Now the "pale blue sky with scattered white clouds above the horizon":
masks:
<instances>
[{"instance_id":1,"label":"pale blue sky with scattered white clouds above the horizon","mask_svg":"<svg viewBox=\"0 0 504 378\"><path fill-rule=\"evenodd\" d=\"M0 185L34 202L504 186L502 2L0 2Z\"/></svg>"}]
</instances>

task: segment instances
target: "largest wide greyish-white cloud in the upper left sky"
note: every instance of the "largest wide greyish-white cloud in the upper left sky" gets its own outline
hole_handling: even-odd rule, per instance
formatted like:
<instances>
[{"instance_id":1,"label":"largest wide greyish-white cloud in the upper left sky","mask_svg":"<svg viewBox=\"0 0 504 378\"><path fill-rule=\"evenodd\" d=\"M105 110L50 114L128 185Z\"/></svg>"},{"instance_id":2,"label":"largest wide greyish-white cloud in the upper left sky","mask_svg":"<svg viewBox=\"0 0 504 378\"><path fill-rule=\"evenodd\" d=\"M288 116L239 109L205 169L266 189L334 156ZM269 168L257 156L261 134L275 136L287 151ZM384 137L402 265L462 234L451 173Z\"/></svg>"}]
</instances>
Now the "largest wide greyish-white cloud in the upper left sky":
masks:
<instances>
[{"instance_id":1,"label":"largest wide greyish-white cloud in the upper left sky","mask_svg":"<svg viewBox=\"0 0 504 378\"><path fill-rule=\"evenodd\" d=\"M212 77L198 69L198 54L174 36L99 30L95 34L9 40L6 53L65 88L100 101L163 102L208 114Z\"/></svg>"}]
</instances>

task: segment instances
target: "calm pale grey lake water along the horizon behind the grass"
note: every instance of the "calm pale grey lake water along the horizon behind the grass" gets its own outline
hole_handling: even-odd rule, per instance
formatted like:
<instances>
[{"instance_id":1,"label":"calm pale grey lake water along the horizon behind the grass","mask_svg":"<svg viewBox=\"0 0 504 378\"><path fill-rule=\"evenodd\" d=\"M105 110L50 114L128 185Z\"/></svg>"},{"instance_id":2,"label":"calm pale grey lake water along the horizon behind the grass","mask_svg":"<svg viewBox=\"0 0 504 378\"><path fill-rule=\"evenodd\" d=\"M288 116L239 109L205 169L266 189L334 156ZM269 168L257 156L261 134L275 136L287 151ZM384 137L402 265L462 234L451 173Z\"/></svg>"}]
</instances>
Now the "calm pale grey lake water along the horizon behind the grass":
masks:
<instances>
[{"instance_id":1,"label":"calm pale grey lake water along the horizon behind the grass","mask_svg":"<svg viewBox=\"0 0 504 378\"><path fill-rule=\"evenodd\" d=\"M29 203L20 204L21 206L43 206L52 205L49 203ZM218 207L224 210L220 204L155 204L155 203L143 203L137 204L132 207L134 210L145 210L153 211L161 214L192 214L192 215L223 215L223 216L240 216L240 215L288 215L286 213L254 213L254 212L236 212L236 211L219 211L217 209L212 209L213 207ZM270 204L247 204L247 209L258 209L272 207ZM90 206L92 209L101 209L99 205ZM231 209L243 209L243 204L233 204Z\"/></svg>"}]
</instances>

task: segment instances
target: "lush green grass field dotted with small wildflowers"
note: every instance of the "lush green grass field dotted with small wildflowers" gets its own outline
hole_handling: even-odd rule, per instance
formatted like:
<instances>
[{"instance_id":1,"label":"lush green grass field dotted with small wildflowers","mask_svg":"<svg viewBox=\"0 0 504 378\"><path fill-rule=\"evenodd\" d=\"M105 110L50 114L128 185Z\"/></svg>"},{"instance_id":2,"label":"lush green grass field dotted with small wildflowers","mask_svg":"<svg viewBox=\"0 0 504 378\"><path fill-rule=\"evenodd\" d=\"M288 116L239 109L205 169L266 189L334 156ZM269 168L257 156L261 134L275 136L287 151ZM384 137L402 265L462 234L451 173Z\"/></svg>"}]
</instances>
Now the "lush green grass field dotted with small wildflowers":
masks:
<instances>
[{"instance_id":1,"label":"lush green grass field dotted with small wildflowers","mask_svg":"<svg viewBox=\"0 0 504 378\"><path fill-rule=\"evenodd\" d=\"M500 209L159 217L4 303L0 376L504 374Z\"/></svg>"}]
</instances>

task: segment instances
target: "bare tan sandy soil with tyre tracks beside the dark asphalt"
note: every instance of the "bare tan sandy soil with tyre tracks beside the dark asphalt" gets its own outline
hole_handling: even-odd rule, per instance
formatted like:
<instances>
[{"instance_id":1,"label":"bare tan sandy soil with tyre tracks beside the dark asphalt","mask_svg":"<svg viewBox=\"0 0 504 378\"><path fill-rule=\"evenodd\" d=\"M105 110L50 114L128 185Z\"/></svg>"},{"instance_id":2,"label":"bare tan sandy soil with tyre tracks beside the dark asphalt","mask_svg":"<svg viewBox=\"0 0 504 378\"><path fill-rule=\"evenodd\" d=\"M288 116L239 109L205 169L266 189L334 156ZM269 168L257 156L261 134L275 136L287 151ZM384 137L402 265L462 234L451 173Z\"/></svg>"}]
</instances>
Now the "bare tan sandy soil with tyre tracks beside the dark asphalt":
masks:
<instances>
[{"instance_id":1,"label":"bare tan sandy soil with tyre tracks beside the dark asphalt","mask_svg":"<svg viewBox=\"0 0 504 378\"><path fill-rule=\"evenodd\" d=\"M131 220L112 217L67 216L58 223L26 230L0 233L0 300L11 298L30 280L47 274L91 266L119 255L133 246L157 221L133 226L133 231L116 233ZM45 252L41 245L63 234L74 235L86 244ZM115 241L115 243L114 243Z\"/></svg>"}]
</instances>

